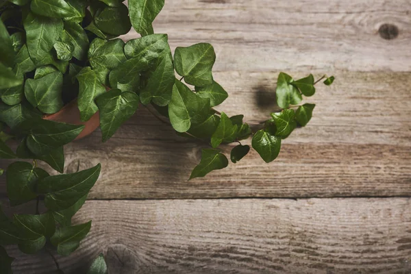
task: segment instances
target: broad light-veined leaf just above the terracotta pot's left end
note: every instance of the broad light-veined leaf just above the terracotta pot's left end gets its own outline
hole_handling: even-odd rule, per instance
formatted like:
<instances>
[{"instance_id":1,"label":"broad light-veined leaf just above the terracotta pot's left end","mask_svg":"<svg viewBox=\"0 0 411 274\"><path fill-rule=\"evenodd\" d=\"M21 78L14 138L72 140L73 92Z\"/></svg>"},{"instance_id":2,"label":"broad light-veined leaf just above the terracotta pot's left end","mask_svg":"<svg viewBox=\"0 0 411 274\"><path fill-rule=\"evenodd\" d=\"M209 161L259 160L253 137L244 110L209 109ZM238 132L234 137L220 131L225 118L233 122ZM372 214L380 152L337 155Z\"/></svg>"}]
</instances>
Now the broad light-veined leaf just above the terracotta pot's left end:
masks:
<instances>
[{"instance_id":1,"label":"broad light-veined leaf just above the terracotta pot's left end","mask_svg":"<svg viewBox=\"0 0 411 274\"><path fill-rule=\"evenodd\" d=\"M63 107L62 101L63 75L55 71L39 79L27 79L25 82L25 97L34 108L41 112L52 114Z\"/></svg>"}]
</instances>

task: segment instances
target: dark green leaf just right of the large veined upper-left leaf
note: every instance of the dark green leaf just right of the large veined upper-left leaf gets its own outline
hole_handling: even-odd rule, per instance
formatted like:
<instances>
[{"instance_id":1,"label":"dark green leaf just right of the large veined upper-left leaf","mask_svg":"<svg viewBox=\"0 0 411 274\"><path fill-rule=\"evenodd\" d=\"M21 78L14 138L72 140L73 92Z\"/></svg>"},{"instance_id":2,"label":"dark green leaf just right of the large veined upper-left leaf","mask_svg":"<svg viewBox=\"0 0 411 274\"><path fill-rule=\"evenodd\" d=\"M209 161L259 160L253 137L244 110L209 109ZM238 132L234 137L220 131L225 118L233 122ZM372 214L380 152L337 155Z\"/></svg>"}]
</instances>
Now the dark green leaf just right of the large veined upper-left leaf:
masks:
<instances>
[{"instance_id":1,"label":"dark green leaf just right of the large veined upper-left leaf","mask_svg":"<svg viewBox=\"0 0 411 274\"><path fill-rule=\"evenodd\" d=\"M72 21L64 22L62 40L73 45L73 56L78 60L86 60L88 38L81 25Z\"/></svg>"}]
</instances>

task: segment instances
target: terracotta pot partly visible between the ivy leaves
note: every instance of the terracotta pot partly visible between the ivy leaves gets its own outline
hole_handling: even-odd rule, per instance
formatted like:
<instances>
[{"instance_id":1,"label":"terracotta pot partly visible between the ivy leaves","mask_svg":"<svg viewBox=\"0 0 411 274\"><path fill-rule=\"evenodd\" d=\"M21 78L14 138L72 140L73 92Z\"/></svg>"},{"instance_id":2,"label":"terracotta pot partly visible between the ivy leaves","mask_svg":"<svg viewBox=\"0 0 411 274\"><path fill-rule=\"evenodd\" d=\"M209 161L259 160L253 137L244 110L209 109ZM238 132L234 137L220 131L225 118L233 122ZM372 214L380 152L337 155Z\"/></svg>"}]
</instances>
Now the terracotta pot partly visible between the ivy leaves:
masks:
<instances>
[{"instance_id":1,"label":"terracotta pot partly visible between the ivy leaves","mask_svg":"<svg viewBox=\"0 0 411 274\"><path fill-rule=\"evenodd\" d=\"M75 140L79 140L92 134L92 132L94 132L100 125L99 112L96 112L96 114L91 116L90 120L86 122L82 122L82 120L80 120L80 111L79 108L77 108L77 99L71 101L67 105L64 105L64 107L55 114L44 115L42 119L68 123L72 125L86 125L86 127L84 127L83 131L79 134L79 136L77 136L77 138L75 138Z\"/></svg>"}]
</instances>

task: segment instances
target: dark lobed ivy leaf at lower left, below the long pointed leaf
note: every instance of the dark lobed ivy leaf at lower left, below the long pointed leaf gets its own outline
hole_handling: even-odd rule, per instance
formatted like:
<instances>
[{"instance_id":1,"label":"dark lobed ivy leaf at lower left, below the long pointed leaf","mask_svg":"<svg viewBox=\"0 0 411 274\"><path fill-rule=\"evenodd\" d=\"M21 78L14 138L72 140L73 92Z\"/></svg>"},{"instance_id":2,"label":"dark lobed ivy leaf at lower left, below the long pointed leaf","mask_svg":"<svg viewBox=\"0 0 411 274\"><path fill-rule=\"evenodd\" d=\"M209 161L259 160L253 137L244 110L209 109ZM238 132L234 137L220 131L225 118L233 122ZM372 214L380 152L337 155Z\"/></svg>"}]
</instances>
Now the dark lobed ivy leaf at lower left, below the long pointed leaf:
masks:
<instances>
[{"instance_id":1,"label":"dark lobed ivy leaf at lower left, below the long pointed leaf","mask_svg":"<svg viewBox=\"0 0 411 274\"><path fill-rule=\"evenodd\" d=\"M27 254L37 253L45 246L46 238L54 234L55 223L51 212L40 215L14 215L13 223L18 229L18 249Z\"/></svg>"}]
</instances>

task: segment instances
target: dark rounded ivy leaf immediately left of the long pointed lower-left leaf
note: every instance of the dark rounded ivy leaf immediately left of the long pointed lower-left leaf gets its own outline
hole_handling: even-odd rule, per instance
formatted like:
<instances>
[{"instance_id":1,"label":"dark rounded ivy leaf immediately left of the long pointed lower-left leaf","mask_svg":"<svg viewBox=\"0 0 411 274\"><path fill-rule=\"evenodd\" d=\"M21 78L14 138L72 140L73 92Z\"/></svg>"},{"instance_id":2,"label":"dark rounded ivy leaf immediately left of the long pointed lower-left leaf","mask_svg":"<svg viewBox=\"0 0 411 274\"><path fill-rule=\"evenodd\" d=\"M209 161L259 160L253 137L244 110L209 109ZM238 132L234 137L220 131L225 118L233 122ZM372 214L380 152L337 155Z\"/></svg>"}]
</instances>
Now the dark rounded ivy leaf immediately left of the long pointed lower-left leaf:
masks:
<instances>
[{"instance_id":1,"label":"dark rounded ivy leaf immediately left of the long pointed lower-left leaf","mask_svg":"<svg viewBox=\"0 0 411 274\"><path fill-rule=\"evenodd\" d=\"M20 205L37 197L34 192L36 181L49 174L42 169L34 168L27 162L14 162L6 172L8 198L12 206Z\"/></svg>"}]
</instances>

